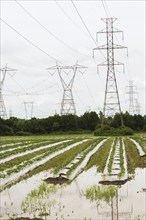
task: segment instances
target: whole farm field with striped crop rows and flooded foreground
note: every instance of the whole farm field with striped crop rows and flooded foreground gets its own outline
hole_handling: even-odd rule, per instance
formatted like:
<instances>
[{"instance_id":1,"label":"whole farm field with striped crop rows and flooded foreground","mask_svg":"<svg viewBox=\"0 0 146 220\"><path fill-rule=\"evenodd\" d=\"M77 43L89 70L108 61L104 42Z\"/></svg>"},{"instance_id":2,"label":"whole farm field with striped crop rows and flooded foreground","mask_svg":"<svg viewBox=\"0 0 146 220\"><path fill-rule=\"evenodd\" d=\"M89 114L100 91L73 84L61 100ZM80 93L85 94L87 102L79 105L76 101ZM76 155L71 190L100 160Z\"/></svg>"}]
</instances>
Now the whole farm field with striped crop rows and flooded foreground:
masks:
<instances>
[{"instance_id":1,"label":"whole farm field with striped crop rows and flooded foreground","mask_svg":"<svg viewBox=\"0 0 146 220\"><path fill-rule=\"evenodd\" d=\"M0 138L0 219L145 220L146 138Z\"/></svg>"}]
</instances>

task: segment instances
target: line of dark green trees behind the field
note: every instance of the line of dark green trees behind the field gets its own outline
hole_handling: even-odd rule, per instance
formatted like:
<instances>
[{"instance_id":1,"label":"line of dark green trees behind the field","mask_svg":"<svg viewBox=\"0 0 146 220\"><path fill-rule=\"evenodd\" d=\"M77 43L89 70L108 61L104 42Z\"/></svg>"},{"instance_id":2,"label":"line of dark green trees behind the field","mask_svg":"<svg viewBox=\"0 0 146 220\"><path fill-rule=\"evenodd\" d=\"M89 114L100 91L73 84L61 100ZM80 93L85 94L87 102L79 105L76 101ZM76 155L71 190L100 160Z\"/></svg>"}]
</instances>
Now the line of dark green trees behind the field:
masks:
<instances>
[{"instance_id":1,"label":"line of dark green trees behind the field","mask_svg":"<svg viewBox=\"0 0 146 220\"><path fill-rule=\"evenodd\" d=\"M141 115L130 115L125 112L123 115L124 126L134 131L146 131L146 118ZM11 117L0 118L0 135L28 135L28 134L50 134L52 132L82 133L93 132L102 123L102 113L94 111L77 115L57 115L48 118L32 118L30 120ZM120 115L113 118L106 118L105 123L113 128L121 126Z\"/></svg>"}]
</instances>

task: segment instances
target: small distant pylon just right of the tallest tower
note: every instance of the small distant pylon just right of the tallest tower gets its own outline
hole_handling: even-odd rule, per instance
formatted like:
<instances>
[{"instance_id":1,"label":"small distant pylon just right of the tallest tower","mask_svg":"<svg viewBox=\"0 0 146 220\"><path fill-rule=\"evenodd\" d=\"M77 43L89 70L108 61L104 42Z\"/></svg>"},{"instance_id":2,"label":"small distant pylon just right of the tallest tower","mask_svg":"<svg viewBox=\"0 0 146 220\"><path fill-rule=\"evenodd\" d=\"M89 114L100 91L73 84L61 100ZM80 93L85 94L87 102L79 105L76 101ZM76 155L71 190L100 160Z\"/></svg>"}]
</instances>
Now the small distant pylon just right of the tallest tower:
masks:
<instances>
[{"instance_id":1,"label":"small distant pylon just right of the tallest tower","mask_svg":"<svg viewBox=\"0 0 146 220\"><path fill-rule=\"evenodd\" d=\"M135 114L135 107L134 107L134 94L136 94L136 86L133 84L132 80L129 80L129 85L126 86L128 88L128 91L125 94L129 95L129 114L134 115Z\"/></svg>"}]
</instances>

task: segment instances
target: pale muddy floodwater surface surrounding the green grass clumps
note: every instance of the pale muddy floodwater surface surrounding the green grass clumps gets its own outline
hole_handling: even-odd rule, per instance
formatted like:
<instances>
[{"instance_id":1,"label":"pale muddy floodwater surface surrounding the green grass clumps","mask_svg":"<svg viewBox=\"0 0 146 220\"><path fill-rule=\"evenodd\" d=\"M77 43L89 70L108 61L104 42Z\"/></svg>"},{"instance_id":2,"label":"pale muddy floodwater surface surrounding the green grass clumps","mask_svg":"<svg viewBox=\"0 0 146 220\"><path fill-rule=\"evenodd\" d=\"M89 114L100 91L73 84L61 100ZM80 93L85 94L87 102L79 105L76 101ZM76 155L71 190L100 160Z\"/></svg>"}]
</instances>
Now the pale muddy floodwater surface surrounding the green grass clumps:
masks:
<instances>
[{"instance_id":1,"label":"pale muddy floodwater surface surrounding the green grass clumps","mask_svg":"<svg viewBox=\"0 0 146 220\"><path fill-rule=\"evenodd\" d=\"M42 172L3 191L0 194L1 219L8 219L8 216L12 215L33 217L35 213L23 213L21 203L48 175L48 172ZM100 201L97 208L96 201L91 202L85 196L87 188L99 185L101 175L96 173L96 168L93 167L80 174L69 185L59 186L56 193L46 197L47 200L53 199L56 203L50 208L50 215L42 219L145 220L146 192L143 189L146 188L146 168L137 169L133 179L126 184L115 186L117 193L113 198L113 207L105 201Z\"/></svg>"}]
</instances>

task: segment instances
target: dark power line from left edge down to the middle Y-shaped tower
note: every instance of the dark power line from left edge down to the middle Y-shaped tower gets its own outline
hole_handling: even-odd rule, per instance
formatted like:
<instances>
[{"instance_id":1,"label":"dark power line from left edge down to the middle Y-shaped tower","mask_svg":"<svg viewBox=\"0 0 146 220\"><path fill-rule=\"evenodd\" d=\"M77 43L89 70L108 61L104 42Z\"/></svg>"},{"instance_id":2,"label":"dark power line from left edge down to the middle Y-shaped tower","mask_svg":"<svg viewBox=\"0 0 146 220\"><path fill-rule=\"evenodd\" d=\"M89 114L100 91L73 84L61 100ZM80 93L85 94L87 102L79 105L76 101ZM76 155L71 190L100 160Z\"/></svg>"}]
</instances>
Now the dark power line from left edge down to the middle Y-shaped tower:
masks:
<instances>
[{"instance_id":1,"label":"dark power line from left edge down to the middle Y-shaped tower","mask_svg":"<svg viewBox=\"0 0 146 220\"><path fill-rule=\"evenodd\" d=\"M56 58L54 58L53 56L51 56L50 54L48 54L47 52L45 52L44 50L42 50L40 47L38 47L36 44L34 44L32 41L30 41L29 39L27 39L26 37L24 37L20 32L18 32L15 28L13 28L11 25L9 25L6 21L4 21L2 18L0 18L0 20L6 24L9 28L11 28L14 32L16 32L19 36L21 36L24 40L26 40L29 44L31 44L33 47L37 48L39 51L41 51L42 53L44 53L45 55L47 55L48 57L50 57L51 59L55 60L55 62L61 63L59 60L57 60ZM61 63L62 64L62 63Z\"/></svg>"}]
</instances>

